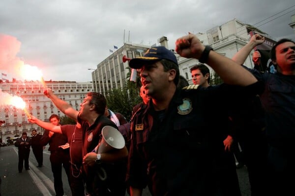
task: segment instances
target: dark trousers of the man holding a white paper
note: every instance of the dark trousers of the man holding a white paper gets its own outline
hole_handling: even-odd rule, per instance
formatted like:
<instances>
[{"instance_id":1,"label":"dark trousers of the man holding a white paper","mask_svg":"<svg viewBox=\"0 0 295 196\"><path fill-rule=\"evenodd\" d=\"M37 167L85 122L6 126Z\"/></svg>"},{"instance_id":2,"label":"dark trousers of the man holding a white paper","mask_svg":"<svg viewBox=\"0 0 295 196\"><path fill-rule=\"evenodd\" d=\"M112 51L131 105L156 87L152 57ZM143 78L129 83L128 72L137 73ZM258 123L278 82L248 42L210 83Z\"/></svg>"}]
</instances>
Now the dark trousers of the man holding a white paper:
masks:
<instances>
[{"instance_id":1,"label":"dark trousers of the man holding a white paper","mask_svg":"<svg viewBox=\"0 0 295 196\"><path fill-rule=\"evenodd\" d=\"M54 189L56 192L56 196L63 196L63 187L62 187L62 167L65 170L65 173L68 177L68 183L70 185L70 177L69 177L69 154L68 151L63 152L63 150L51 151L50 154L50 162L51 162L51 170L53 172L54 177Z\"/></svg>"}]
</instances>

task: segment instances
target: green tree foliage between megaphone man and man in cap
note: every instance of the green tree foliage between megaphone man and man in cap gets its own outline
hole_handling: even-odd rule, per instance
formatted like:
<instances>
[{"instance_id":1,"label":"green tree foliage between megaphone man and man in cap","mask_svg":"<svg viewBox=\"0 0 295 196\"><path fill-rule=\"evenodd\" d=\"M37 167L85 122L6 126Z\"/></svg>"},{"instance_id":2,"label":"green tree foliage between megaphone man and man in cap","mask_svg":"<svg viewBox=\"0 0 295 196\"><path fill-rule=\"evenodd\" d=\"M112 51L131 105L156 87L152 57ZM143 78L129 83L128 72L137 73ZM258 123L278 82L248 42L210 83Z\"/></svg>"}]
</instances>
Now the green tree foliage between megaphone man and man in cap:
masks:
<instances>
[{"instance_id":1,"label":"green tree foliage between megaphone man and man in cap","mask_svg":"<svg viewBox=\"0 0 295 196\"><path fill-rule=\"evenodd\" d=\"M136 82L130 81L130 68L127 67L127 69L129 73L127 73L123 88L108 91L106 99L110 110L121 113L129 121L133 107L142 102L142 98L139 96L139 85L141 85L139 77Z\"/></svg>"}]
</instances>

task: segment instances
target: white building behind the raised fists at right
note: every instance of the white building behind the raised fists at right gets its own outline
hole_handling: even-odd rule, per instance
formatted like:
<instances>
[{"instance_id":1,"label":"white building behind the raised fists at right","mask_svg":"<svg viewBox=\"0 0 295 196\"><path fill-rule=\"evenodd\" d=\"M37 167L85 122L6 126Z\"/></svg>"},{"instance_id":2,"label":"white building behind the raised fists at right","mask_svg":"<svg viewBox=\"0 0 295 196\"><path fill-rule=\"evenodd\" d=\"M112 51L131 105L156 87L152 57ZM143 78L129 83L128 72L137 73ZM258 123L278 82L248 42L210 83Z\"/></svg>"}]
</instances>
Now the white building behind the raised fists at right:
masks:
<instances>
[{"instance_id":1,"label":"white building behind the raised fists at right","mask_svg":"<svg viewBox=\"0 0 295 196\"><path fill-rule=\"evenodd\" d=\"M266 33L256 29L251 25L242 23L236 19L228 21L220 26L214 27L207 30L206 33L197 33L196 35L201 40L204 45L210 45L215 52L226 56L228 58L233 58L238 50L244 47L250 40L250 32L255 31L263 36L268 36ZM243 65L253 68L254 63L252 62L252 51ZM194 65L199 64L196 59L186 59L180 57L178 54L177 62L179 64L180 75L184 76L189 84L193 84L190 68ZM209 67L209 66L208 66ZM209 67L210 73L213 72L212 68Z\"/></svg>"}]
</instances>

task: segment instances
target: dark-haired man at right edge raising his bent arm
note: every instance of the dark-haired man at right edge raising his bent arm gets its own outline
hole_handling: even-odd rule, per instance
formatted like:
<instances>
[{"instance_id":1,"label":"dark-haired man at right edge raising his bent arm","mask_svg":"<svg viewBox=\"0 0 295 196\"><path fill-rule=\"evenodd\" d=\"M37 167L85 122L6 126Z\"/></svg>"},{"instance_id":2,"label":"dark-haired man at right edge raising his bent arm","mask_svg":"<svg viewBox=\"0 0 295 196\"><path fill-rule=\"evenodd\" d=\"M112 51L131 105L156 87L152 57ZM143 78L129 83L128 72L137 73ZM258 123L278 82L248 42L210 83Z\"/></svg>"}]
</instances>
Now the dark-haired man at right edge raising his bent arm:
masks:
<instances>
[{"instance_id":1,"label":"dark-haired man at right edge raising his bent arm","mask_svg":"<svg viewBox=\"0 0 295 196\"><path fill-rule=\"evenodd\" d=\"M252 36L237 52L236 62L242 64L264 40L261 35ZM265 195L294 195L295 42L280 39L272 47L270 58L277 66L276 74L250 70L265 83L265 91L259 94L265 109L268 146Z\"/></svg>"}]
</instances>

